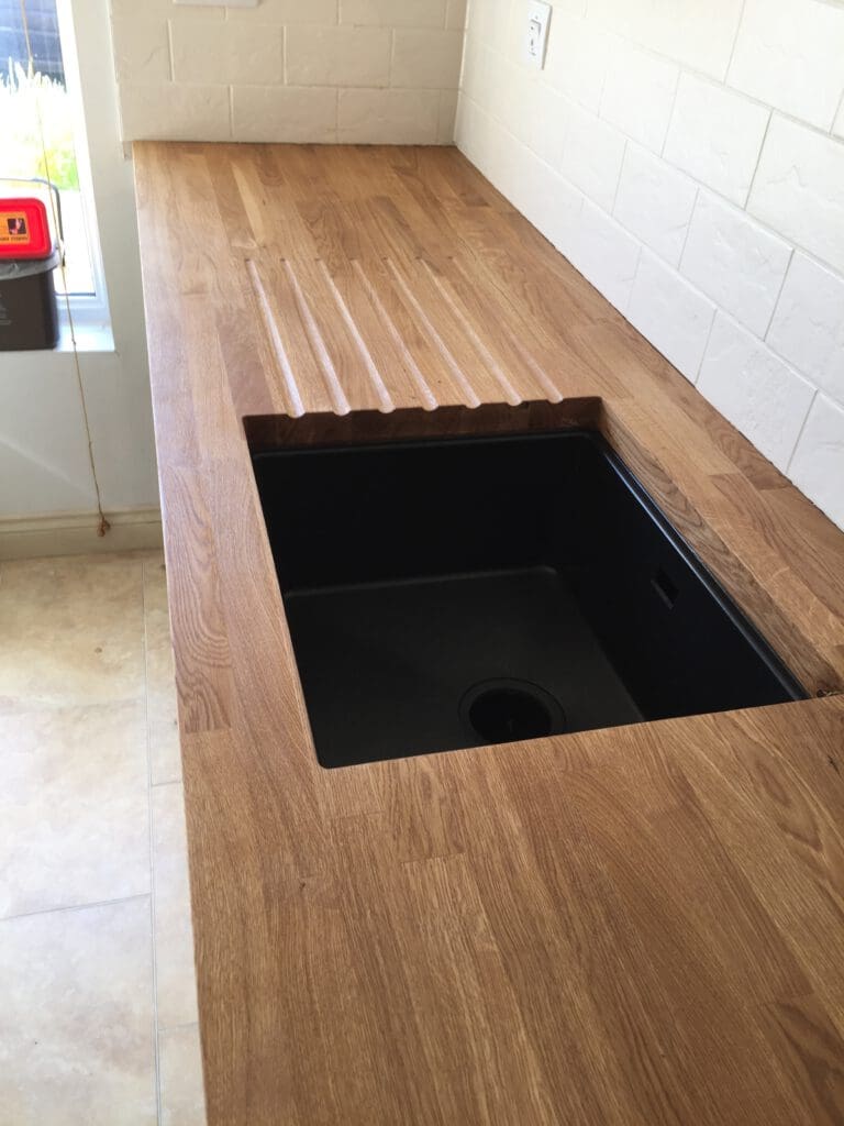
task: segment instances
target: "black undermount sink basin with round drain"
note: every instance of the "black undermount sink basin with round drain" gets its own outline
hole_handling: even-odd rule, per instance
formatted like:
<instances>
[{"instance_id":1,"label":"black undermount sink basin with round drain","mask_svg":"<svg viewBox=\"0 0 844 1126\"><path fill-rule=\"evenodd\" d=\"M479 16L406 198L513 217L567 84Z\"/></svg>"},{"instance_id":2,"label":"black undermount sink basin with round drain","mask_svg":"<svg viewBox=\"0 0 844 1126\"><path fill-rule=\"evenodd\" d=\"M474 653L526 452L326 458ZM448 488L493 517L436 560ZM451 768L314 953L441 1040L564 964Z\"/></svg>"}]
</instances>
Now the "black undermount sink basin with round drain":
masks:
<instances>
[{"instance_id":1,"label":"black undermount sink basin with round drain","mask_svg":"<svg viewBox=\"0 0 844 1126\"><path fill-rule=\"evenodd\" d=\"M253 464L324 767L806 695L592 431Z\"/></svg>"}]
</instances>

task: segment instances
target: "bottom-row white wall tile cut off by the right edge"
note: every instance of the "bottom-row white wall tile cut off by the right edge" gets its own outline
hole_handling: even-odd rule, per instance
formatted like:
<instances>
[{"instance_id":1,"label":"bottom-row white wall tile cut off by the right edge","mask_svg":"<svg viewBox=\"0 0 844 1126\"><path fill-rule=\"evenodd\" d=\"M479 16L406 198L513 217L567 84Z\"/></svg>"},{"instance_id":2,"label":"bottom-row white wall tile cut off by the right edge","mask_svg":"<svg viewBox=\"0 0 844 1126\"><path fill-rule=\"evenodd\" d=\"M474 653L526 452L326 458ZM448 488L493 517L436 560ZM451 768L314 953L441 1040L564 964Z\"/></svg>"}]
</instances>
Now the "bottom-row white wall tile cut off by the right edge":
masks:
<instances>
[{"instance_id":1,"label":"bottom-row white wall tile cut off by the right edge","mask_svg":"<svg viewBox=\"0 0 844 1126\"><path fill-rule=\"evenodd\" d=\"M817 396L789 473L798 489L844 527L844 408Z\"/></svg>"}]
</instances>

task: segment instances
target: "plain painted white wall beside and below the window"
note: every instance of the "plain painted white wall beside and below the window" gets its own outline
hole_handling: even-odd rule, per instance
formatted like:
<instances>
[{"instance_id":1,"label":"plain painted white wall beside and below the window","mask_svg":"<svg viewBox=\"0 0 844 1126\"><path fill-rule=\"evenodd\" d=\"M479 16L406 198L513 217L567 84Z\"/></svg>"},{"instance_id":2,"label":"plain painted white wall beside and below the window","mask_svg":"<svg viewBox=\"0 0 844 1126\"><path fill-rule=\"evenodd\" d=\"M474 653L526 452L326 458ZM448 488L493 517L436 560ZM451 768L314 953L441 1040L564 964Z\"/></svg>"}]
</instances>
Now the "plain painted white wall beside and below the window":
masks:
<instances>
[{"instance_id":1,"label":"plain painted white wall beside and below the window","mask_svg":"<svg viewBox=\"0 0 844 1126\"><path fill-rule=\"evenodd\" d=\"M115 351L81 357L107 510L158 504L132 164L124 160L107 0L74 0ZM0 520L88 511L95 494L72 356L0 352Z\"/></svg>"}]
</instances>

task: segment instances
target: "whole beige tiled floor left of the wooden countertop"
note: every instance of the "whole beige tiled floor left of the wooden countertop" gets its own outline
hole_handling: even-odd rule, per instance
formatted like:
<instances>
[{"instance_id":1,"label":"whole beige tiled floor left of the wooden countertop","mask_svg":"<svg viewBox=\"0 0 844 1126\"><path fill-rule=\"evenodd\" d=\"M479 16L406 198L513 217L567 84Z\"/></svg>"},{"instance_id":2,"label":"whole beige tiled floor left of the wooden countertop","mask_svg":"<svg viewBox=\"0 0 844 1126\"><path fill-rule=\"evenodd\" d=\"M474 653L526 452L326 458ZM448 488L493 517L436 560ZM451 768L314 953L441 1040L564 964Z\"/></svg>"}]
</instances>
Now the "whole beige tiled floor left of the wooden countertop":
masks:
<instances>
[{"instance_id":1,"label":"whole beige tiled floor left of the wooden countertop","mask_svg":"<svg viewBox=\"0 0 844 1126\"><path fill-rule=\"evenodd\" d=\"M0 1126L205 1123L161 553L0 563Z\"/></svg>"}]
</instances>

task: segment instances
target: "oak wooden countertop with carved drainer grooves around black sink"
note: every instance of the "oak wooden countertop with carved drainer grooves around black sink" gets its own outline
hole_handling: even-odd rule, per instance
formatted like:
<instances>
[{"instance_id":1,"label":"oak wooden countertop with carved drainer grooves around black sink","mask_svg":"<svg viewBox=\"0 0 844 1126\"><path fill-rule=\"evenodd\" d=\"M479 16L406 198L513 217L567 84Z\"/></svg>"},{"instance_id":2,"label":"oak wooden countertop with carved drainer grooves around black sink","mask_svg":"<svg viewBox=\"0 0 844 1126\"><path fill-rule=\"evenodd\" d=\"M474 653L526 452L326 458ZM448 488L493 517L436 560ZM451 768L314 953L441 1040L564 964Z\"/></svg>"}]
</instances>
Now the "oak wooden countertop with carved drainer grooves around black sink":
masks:
<instances>
[{"instance_id":1,"label":"oak wooden countertop with carved drainer grooves around black sink","mask_svg":"<svg viewBox=\"0 0 844 1126\"><path fill-rule=\"evenodd\" d=\"M212 1126L844 1120L844 697L323 770L242 419L592 420L812 694L844 535L456 151L135 163Z\"/></svg>"}]
</instances>

